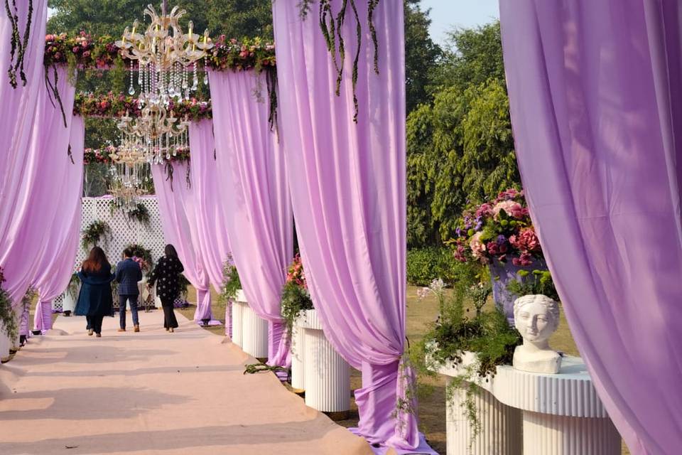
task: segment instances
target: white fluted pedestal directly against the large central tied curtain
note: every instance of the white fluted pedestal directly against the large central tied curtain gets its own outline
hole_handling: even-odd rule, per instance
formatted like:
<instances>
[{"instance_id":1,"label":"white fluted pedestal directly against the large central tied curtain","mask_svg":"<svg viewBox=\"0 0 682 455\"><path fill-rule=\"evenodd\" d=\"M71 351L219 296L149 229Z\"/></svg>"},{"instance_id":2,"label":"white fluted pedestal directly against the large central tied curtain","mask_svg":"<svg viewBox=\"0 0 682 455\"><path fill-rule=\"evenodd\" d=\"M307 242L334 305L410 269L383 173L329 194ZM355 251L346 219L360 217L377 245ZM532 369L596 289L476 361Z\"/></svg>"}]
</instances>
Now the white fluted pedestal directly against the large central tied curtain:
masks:
<instances>
[{"instance_id":1,"label":"white fluted pedestal directly against the large central tied curtain","mask_svg":"<svg viewBox=\"0 0 682 455\"><path fill-rule=\"evenodd\" d=\"M322 412L350 410L350 365L325 337L315 310L305 311L305 404Z\"/></svg>"}]
</instances>

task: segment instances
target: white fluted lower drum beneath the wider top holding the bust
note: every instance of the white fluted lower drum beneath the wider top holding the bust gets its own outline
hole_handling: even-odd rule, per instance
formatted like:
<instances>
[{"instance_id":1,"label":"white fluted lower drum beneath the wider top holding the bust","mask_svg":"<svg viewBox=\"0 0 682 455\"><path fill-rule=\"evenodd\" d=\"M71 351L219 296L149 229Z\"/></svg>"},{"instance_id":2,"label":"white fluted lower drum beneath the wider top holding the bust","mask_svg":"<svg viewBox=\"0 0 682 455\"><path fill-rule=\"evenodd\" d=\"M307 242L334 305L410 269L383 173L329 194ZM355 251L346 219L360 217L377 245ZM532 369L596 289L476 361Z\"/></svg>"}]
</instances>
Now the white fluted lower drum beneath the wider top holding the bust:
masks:
<instances>
[{"instance_id":1,"label":"white fluted lower drum beneath the wider top holding the bust","mask_svg":"<svg viewBox=\"0 0 682 455\"><path fill-rule=\"evenodd\" d=\"M618 455L611 419L524 411L524 455Z\"/></svg>"}]
</instances>

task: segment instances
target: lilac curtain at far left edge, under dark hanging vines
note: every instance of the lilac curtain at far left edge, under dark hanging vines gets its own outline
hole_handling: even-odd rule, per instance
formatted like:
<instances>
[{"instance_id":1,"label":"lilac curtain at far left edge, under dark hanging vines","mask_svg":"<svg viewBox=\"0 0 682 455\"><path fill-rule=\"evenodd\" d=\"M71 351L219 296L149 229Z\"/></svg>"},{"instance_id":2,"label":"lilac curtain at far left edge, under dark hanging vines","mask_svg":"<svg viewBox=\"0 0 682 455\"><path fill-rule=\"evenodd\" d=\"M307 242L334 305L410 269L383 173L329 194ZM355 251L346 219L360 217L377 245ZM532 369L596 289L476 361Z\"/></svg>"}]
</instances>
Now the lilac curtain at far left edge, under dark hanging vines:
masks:
<instances>
[{"instance_id":1,"label":"lilac curtain at far left edge, under dark hanging vines","mask_svg":"<svg viewBox=\"0 0 682 455\"><path fill-rule=\"evenodd\" d=\"M28 19L28 2L16 3L18 26L23 38ZM23 182L29 170L28 144L33 134L33 119L38 105L38 92L45 85L43 79L43 48L45 47L45 21L48 12L47 0L33 1L33 19L30 24L31 35L26 56L24 58L24 73L26 86L18 77L18 87L15 89L9 83L7 68L11 65L11 21L4 8L0 11L0 105L6 111L0 115L0 252L7 252L13 245L14 232L11 224L26 208L15 201L19 198ZM14 264L3 262L6 269L6 286L14 289L13 295L21 294L21 288L26 286L23 275L13 272Z\"/></svg>"}]
</instances>

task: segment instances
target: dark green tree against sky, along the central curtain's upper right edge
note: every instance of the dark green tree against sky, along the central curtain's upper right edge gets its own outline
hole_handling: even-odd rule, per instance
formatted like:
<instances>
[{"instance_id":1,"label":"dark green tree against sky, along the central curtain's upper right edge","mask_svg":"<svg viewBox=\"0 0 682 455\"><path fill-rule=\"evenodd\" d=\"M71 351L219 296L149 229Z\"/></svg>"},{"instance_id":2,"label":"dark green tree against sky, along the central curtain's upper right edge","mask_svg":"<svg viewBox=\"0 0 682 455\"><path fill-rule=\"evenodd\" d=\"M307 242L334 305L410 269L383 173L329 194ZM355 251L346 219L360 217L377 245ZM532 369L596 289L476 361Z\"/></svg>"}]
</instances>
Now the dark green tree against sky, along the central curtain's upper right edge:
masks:
<instances>
[{"instance_id":1,"label":"dark green tree against sky, along the central curtain's upper right edge","mask_svg":"<svg viewBox=\"0 0 682 455\"><path fill-rule=\"evenodd\" d=\"M421 0L405 0L405 78L407 112L428 101L426 87L429 73L435 70L442 54L428 33L429 11L420 7Z\"/></svg>"}]
</instances>

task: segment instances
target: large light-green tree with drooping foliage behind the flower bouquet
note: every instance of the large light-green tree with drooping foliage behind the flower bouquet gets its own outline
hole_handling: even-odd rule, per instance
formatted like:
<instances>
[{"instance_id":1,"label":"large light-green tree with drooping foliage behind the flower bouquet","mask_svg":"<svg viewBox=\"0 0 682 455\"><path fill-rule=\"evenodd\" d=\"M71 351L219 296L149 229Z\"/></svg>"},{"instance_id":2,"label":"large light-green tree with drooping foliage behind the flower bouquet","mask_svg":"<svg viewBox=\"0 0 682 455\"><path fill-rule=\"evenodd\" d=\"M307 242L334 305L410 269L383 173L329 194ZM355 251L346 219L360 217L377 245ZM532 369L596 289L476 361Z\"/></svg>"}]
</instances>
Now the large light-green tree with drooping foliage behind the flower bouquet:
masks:
<instances>
[{"instance_id":1,"label":"large light-green tree with drooping foliage behind the flower bouquet","mask_svg":"<svg viewBox=\"0 0 682 455\"><path fill-rule=\"evenodd\" d=\"M462 29L407 119L408 245L454 236L462 210L519 188L499 23Z\"/></svg>"}]
</instances>

